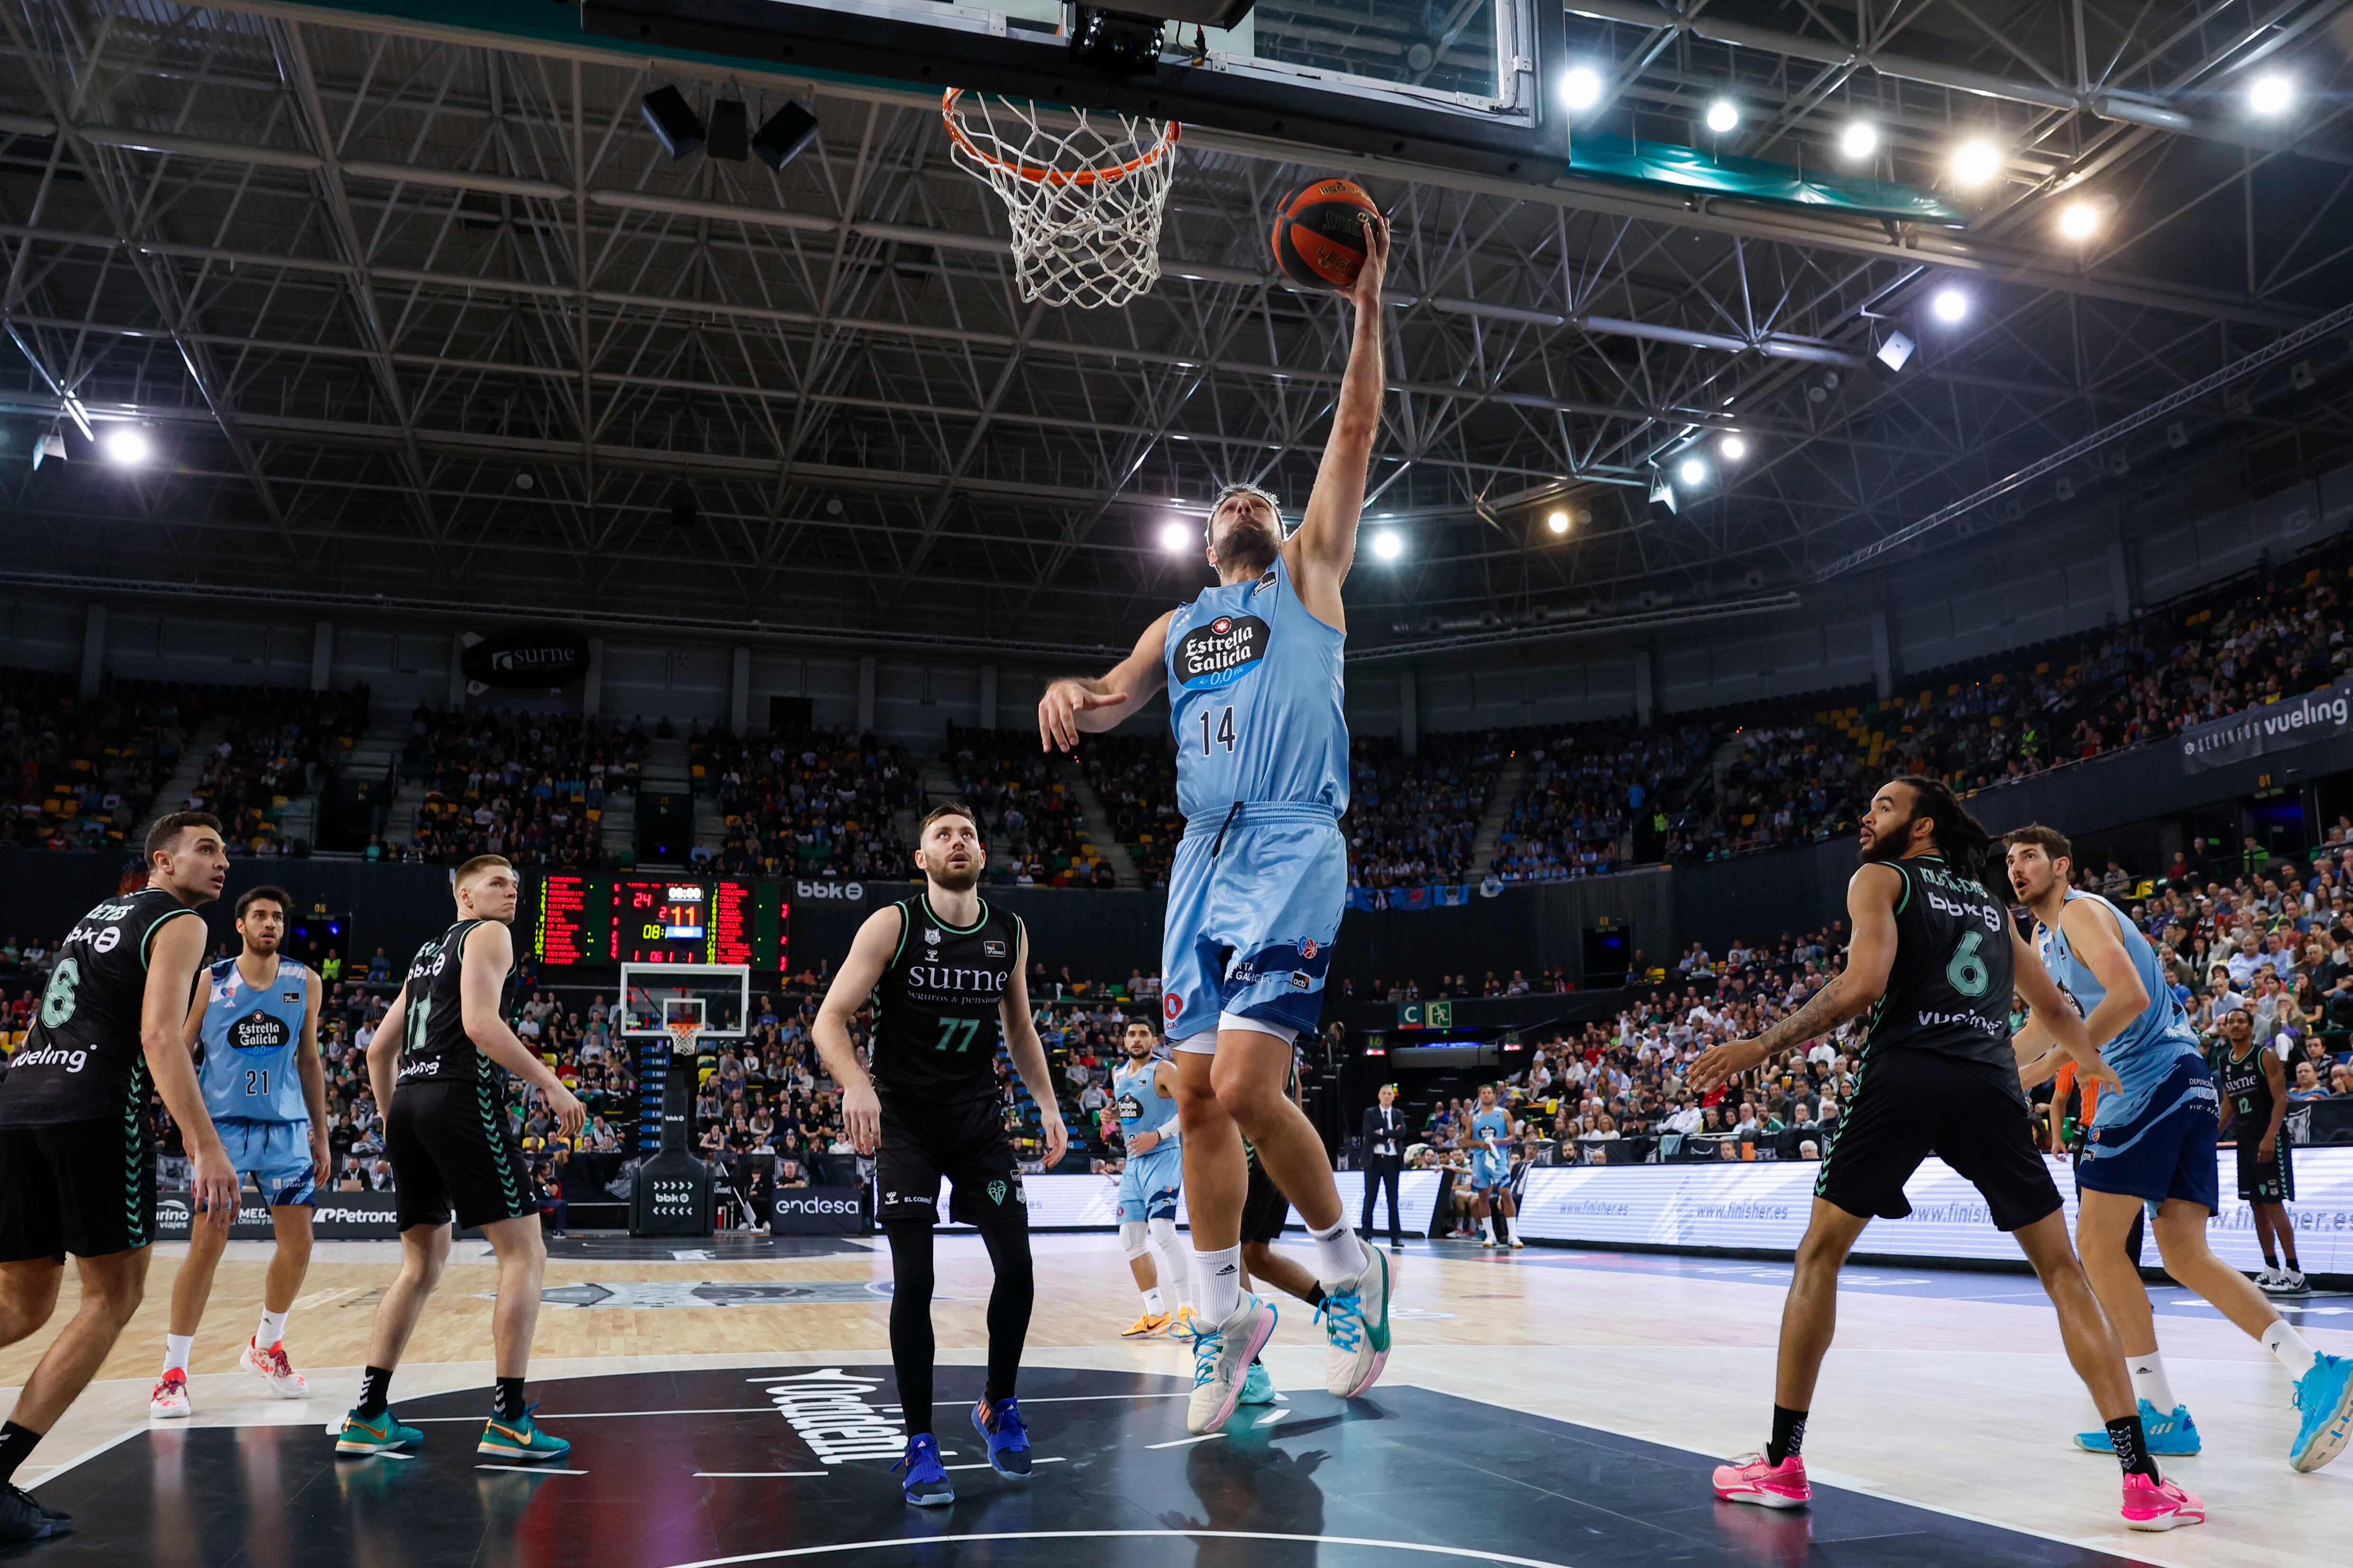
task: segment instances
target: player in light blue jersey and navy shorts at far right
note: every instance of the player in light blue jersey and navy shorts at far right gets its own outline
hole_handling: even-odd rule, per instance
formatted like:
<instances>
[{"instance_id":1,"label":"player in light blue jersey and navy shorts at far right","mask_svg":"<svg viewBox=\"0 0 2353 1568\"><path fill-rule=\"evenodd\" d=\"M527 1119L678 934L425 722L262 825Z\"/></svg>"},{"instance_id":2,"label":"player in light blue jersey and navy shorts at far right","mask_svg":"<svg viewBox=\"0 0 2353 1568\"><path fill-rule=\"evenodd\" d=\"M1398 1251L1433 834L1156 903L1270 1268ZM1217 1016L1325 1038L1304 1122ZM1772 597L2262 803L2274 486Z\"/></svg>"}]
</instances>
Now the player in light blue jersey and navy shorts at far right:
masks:
<instances>
[{"instance_id":1,"label":"player in light blue jersey and navy shorts at far right","mask_svg":"<svg viewBox=\"0 0 2353 1568\"><path fill-rule=\"evenodd\" d=\"M2127 1253L2141 1206L2155 1208L2158 1253L2165 1272L2238 1324L2287 1368L2301 1415L2287 1446L2292 1469L2320 1469L2353 1436L2353 1359L2322 1356L2282 1319L2264 1293L2207 1248L2205 1227L2221 1206L2214 1140L2221 1131L2214 1077L2188 1013L2174 1001L2148 938L2099 893L2068 886L2073 849L2052 827L2019 827L2009 846L2009 886L2033 910L2035 952L2078 1006L2085 1032L2122 1079L2104 1093L2092 1117L2085 1159L2075 1173L2075 1246L2099 1291L2139 1396L2141 1427L2153 1453L2198 1453L2198 1425L2174 1399L2158 1354L2158 1321ZM2019 1037L2019 1056L2047 1044L2038 1025ZM2057 1048L2021 1067L2026 1081L2054 1067ZM2108 1453L2106 1432L2085 1432L2078 1446Z\"/></svg>"}]
</instances>

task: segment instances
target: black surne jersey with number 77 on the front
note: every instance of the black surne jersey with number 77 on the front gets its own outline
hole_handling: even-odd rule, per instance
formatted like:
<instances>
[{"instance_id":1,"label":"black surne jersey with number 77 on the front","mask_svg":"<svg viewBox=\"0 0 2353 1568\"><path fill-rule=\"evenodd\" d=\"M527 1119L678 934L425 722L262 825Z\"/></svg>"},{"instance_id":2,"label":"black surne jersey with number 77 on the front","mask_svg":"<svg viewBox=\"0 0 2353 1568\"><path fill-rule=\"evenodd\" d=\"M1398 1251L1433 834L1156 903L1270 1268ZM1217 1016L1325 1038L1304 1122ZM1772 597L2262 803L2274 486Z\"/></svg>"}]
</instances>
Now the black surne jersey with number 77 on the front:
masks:
<instances>
[{"instance_id":1,"label":"black surne jersey with number 77 on the front","mask_svg":"<svg viewBox=\"0 0 2353 1568\"><path fill-rule=\"evenodd\" d=\"M927 893L899 900L899 950L873 992L875 1091L922 1103L995 1098L998 1004L1021 961L1021 917L981 900L951 926Z\"/></svg>"}]
</instances>

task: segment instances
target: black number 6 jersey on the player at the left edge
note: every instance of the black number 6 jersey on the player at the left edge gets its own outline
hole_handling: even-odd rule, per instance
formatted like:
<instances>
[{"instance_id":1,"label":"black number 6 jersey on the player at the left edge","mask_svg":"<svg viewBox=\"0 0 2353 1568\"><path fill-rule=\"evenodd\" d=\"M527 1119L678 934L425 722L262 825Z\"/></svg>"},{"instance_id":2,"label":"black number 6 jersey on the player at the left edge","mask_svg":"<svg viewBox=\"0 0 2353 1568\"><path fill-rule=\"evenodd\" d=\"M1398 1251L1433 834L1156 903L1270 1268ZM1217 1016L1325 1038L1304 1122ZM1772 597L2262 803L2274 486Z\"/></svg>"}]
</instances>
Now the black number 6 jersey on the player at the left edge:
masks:
<instances>
[{"instance_id":1,"label":"black number 6 jersey on the player at the left edge","mask_svg":"<svg viewBox=\"0 0 2353 1568\"><path fill-rule=\"evenodd\" d=\"M146 1053L139 1013L146 969L165 922L193 917L176 893L139 889L108 898L56 945L56 966L33 1009L24 1048L0 1084L0 1126L101 1121L146 1110ZM195 999L198 971L188 1001ZM174 1030L186 1001L172 1016Z\"/></svg>"}]
</instances>

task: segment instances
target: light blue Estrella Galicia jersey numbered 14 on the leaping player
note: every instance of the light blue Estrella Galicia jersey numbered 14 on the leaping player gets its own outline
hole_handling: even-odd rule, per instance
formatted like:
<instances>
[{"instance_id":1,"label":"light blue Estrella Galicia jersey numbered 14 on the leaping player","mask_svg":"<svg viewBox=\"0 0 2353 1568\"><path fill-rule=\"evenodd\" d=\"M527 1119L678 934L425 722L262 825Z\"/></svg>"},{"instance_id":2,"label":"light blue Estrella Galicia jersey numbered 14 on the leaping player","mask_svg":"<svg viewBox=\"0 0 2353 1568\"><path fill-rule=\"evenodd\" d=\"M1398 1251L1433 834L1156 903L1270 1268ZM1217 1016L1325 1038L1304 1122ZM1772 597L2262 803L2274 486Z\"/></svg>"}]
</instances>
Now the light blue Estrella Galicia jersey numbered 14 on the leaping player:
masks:
<instances>
[{"instance_id":1,"label":"light blue Estrella Galicia jersey numbered 14 on the leaping player","mask_svg":"<svg viewBox=\"0 0 2353 1568\"><path fill-rule=\"evenodd\" d=\"M1212 825L1235 802L1348 809L1346 632L1318 621L1275 564L1202 588L1169 618L1176 809Z\"/></svg>"}]
</instances>

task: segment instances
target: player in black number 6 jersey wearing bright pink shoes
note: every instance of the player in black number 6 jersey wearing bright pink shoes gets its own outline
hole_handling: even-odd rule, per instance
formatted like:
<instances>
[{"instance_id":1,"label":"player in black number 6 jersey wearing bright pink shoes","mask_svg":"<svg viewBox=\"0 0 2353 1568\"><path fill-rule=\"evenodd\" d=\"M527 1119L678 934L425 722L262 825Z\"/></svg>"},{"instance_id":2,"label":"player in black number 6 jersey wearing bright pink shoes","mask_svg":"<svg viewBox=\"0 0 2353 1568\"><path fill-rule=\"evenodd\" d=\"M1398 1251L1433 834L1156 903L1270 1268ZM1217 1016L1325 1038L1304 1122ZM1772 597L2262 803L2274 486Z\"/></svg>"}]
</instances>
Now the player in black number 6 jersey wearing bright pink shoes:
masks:
<instances>
[{"instance_id":1,"label":"player in black number 6 jersey wearing bright pink shoes","mask_svg":"<svg viewBox=\"0 0 2353 1568\"><path fill-rule=\"evenodd\" d=\"M2059 1338L2108 1425L2125 1472L2125 1523L2169 1530L2205 1521L2205 1505L2158 1474L2125 1375L2125 1352L2066 1234L2066 1211L2028 1131L2009 997L2108 1088L2082 1018L2009 924L1986 884L1986 830L1934 780L1906 776L1873 797L1861 823L1864 865L1847 882L1854 940L1847 966L1805 1006L1755 1039L1734 1039L1692 1063L1706 1093L1779 1051L1871 1009L1871 1037L1838 1143L1814 1178L1814 1213L1781 1309L1781 1361L1772 1441L1715 1469L1715 1495L1805 1507L1812 1488L1798 1448L1821 1356L1838 1324L1838 1267L1873 1215L1911 1213L1904 1182L1937 1154L1986 1197L1995 1227L2019 1241L2059 1309Z\"/></svg>"}]
</instances>

